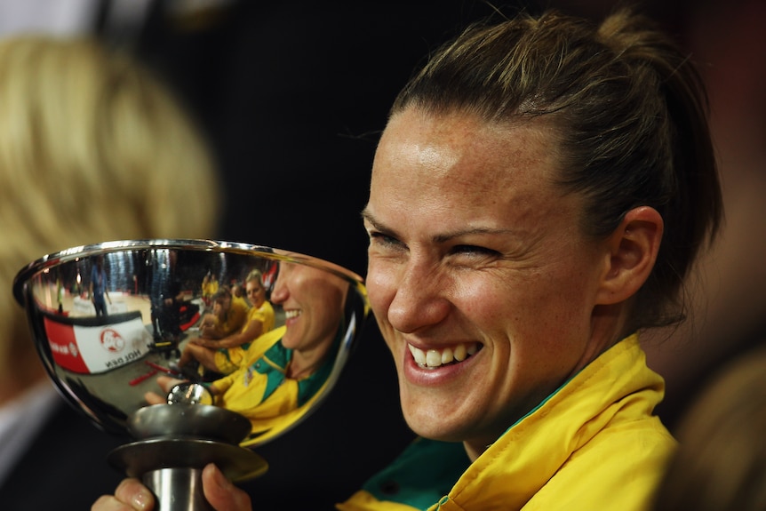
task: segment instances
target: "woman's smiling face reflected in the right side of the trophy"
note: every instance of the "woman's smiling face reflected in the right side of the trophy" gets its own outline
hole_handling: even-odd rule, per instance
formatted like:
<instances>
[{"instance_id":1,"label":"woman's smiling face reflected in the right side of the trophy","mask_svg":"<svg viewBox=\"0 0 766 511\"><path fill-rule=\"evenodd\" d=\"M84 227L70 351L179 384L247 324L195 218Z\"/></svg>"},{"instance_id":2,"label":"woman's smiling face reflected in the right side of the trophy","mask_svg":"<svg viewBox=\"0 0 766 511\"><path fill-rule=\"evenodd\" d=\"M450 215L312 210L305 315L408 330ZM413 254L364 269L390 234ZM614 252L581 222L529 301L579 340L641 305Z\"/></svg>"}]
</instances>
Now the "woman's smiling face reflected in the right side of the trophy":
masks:
<instances>
[{"instance_id":1,"label":"woman's smiling face reflected in the right side of the trophy","mask_svg":"<svg viewBox=\"0 0 766 511\"><path fill-rule=\"evenodd\" d=\"M282 263L271 301L284 310L284 347L329 346L339 328L347 288L340 277L322 269Z\"/></svg>"}]
</instances>

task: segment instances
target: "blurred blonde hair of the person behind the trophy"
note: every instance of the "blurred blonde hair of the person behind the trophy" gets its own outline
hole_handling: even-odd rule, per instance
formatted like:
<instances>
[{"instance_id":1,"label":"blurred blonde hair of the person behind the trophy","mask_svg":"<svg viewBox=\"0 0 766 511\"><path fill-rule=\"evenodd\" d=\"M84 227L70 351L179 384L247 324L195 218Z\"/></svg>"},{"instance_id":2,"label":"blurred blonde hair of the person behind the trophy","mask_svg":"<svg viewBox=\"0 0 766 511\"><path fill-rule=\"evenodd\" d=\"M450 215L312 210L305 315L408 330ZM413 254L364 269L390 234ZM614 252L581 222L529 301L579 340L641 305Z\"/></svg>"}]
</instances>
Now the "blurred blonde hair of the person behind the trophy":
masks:
<instances>
[{"instance_id":1,"label":"blurred blonde hair of the person behind the trophy","mask_svg":"<svg viewBox=\"0 0 766 511\"><path fill-rule=\"evenodd\" d=\"M6 328L20 328L12 279L30 260L116 239L210 237L218 221L206 140L147 68L85 37L0 43ZM0 350L0 363L3 356Z\"/></svg>"}]
</instances>

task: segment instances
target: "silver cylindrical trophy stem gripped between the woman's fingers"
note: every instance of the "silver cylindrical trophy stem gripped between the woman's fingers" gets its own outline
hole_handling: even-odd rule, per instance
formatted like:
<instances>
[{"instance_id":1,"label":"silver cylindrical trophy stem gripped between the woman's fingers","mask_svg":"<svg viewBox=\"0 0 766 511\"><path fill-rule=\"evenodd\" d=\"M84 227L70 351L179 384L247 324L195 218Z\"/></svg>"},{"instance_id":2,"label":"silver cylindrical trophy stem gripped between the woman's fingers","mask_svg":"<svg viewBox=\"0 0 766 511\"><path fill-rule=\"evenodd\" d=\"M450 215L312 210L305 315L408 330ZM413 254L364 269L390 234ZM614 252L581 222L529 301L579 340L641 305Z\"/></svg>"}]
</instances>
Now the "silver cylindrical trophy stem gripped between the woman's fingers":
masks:
<instances>
[{"instance_id":1,"label":"silver cylindrical trophy stem gripped between the woman's fingers","mask_svg":"<svg viewBox=\"0 0 766 511\"><path fill-rule=\"evenodd\" d=\"M151 470L142 481L155 494L157 511L213 511L204 498L199 468Z\"/></svg>"}]
</instances>

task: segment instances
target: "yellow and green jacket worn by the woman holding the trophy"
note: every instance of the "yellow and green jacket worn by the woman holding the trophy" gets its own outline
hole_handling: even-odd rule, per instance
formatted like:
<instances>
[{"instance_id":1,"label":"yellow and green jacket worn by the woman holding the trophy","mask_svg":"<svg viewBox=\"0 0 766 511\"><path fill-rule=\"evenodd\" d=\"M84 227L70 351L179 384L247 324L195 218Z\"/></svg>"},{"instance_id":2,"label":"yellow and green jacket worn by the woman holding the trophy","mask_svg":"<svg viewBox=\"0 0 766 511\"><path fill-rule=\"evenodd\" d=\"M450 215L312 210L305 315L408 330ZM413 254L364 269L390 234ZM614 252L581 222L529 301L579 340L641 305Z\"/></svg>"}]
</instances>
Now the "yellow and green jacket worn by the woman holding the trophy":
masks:
<instances>
[{"instance_id":1,"label":"yellow and green jacket worn by the woman holding the trophy","mask_svg":"<svg viewBox=\"0 0 766 511\"><path fill-rule=\"evenodd\" d=\"M632 335L508 428L474 463L465 453L461 457L460 444L419 439L338 508L648 509L675 448L652 415L664 392L664 380L646 366L638 336ZM451 479L457 483L441 482L448 491L440 495L430 471L443 479L457 474Z\"/></svg>"}]
</instances>

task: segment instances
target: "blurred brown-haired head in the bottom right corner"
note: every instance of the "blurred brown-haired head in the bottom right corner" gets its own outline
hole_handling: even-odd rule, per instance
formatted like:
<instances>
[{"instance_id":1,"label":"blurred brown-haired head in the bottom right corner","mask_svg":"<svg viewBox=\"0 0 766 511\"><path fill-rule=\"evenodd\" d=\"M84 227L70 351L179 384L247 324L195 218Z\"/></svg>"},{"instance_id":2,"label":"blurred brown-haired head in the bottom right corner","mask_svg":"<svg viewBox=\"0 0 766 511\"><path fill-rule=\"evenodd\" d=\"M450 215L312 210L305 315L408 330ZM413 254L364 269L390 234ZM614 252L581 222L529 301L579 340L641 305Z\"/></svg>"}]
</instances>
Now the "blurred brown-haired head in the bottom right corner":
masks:
<instances>
[{"instance_id":1,"label":"blurred brown-haired head in the bottom right corner","mask_svg":"<svg viewBox=\"0 0 766 511\"><path fill-rule=\"evenodd\" d=\"M766 509L766 348L716 371L678 427L654 511Z\"/></svg>"}]
</instances>

